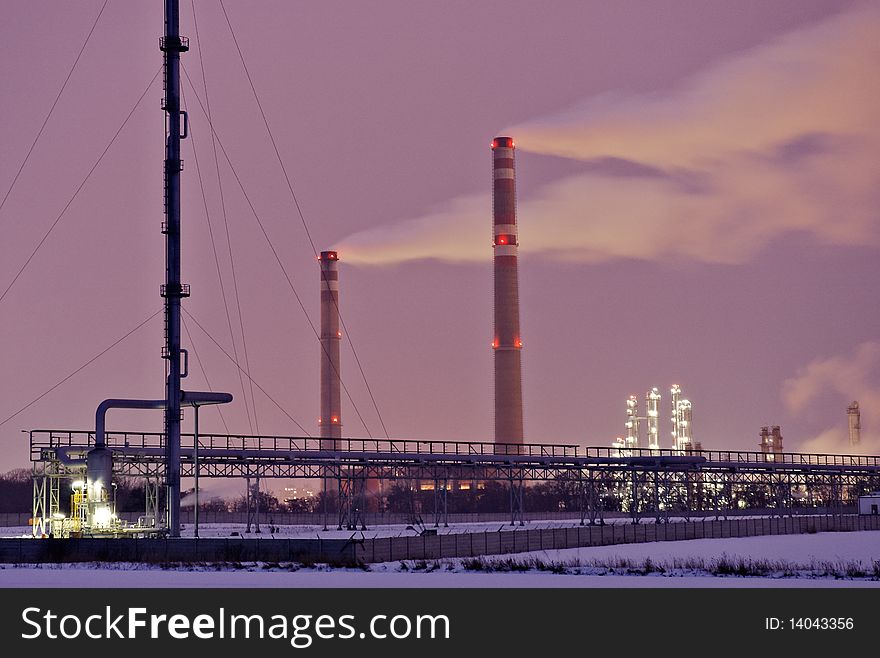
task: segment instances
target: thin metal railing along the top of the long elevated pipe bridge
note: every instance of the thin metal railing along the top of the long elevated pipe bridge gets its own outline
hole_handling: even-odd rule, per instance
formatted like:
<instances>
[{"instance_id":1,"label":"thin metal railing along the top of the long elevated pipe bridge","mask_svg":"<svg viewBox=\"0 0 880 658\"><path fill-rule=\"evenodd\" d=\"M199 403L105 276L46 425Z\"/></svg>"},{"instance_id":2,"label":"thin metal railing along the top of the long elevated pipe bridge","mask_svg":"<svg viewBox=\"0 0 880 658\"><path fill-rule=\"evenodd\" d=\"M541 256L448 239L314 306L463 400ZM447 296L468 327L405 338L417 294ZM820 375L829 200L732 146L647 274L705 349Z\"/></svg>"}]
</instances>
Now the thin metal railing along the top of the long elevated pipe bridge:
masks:
<instances>
[{"instance_id":1,"label":"thin metal railing along the top of the long elevated pipe bridge","mask_svg":"<svg viewBox=\"0 0 880 658\"><path fill-rule=\"evenodd\" d=\"M60 447L93 446L95 433L85 430L30 430L31 460L38 461L41 450ZM181 434L181 448L193 446L192 434ZM711 464L767 464L803 466L880 467L880 456L834 455L820 453L765 453L739 450L688 450L685 452L648 448L582 447L572 444L504 444L485 441L420 441L410 439L322 439L319 437L251 436L240 434L199 434L199 449L265 452L318 452L335 441L337 452L399 453L408 455L450 455L475 457L512 455L533 458L620 459L650 457L702 457ZM108 432L109 448L163 448L161 432Z\"/></svg>"}]
</instances>

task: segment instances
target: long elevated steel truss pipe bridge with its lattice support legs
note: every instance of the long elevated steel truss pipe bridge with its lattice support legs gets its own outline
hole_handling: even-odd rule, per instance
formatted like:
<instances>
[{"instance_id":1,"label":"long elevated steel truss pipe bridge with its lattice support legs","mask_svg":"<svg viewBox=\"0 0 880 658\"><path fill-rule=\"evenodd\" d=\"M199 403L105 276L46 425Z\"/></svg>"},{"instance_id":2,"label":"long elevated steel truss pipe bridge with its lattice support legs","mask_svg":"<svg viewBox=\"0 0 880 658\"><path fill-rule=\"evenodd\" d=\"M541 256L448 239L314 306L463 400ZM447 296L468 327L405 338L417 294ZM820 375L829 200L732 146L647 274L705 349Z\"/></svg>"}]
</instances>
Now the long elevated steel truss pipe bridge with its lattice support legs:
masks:
<instances>
[{"instance_id":1,"label":"long elevated steel truss pipe bridge with its lattice support legs","mask_svg":"<svg viewBox=\"0 0 880 658\"><path fill-rule=\"evenodd\" d=\"M31 432L35 534L47 530L51 534L53 515L61 511L61 482L79 478L79 471L68 470L58 455L66 460L65 450L68 456L85 453L94 440L88 432ZM201 435L200 440L210 447L209 456L199 460L201 477L248 479L249 530L254 521L258 523L260 504L259 491L251 485L255 478L266 477L338 480L341 491L325 497L325 527L337 520L339 527L352 528L363 525L367 481L389 478L407 485L411 523L420 521L417 515L426 511L421 507L426 500L416 498L418 483L433 481L436 525L441 519L447 522L452 482L507 482L514 525L517 520L524 524L524 484L532 482L556 481L572 493L577 486L574 495L584 524L588 519L591 524L601 522L606 507L631 516L633 523L639 523L642 516L661 522L671 514L690 518L698 510L726 518L731 506L778 514L792 514L796 507L824 506L829 513L840 514L842 505L853 504L859 492L880 488L880 457L870 456L840 460L839 456L804 454L766 462L754 453L704 451L700 459L705 461L690 462L682 461L681 455L669 460L664 454L637 450L617 455L598 448L583 451L574 446L541 445L518 451L517 461L511 463L499 460L494 446L487 451L482 444L372 445L351 439L346 440L348 451L328 452L307 438ZM160 527L169 523L162 516L164 507L158 506L161 496L155 487L155 481L165 477L162 441L158 433L119 433L109 439L114 474L148 479L147 517ZM182 477L195 474L188 450L185 445ZM648 460L637 459L648 454ZM799 495L799 490L805 495Z\"/></svg>"}]
</instances>

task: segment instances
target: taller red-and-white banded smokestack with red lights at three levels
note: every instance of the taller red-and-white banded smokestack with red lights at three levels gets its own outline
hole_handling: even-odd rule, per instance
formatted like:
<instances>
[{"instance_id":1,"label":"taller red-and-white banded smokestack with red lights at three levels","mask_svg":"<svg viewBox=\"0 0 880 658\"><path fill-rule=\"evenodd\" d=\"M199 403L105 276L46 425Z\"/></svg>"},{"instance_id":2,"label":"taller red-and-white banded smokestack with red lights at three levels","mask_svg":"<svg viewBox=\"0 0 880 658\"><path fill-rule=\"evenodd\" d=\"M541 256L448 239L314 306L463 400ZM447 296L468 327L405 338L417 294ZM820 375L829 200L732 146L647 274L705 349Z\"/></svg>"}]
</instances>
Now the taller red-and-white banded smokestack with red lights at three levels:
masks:
<instances>
[{"instance_id":1,"label":"taller red-and-white banded smokestack with red lights at three levels","mask_svg":"<svg viewBox=\"0 0 880 658\"><path fill-rule=\"evenodd\" d=\"M511 137L492 140L495 272L495 443L523 442L516 174Z\"/></svg>"}]
</instances>

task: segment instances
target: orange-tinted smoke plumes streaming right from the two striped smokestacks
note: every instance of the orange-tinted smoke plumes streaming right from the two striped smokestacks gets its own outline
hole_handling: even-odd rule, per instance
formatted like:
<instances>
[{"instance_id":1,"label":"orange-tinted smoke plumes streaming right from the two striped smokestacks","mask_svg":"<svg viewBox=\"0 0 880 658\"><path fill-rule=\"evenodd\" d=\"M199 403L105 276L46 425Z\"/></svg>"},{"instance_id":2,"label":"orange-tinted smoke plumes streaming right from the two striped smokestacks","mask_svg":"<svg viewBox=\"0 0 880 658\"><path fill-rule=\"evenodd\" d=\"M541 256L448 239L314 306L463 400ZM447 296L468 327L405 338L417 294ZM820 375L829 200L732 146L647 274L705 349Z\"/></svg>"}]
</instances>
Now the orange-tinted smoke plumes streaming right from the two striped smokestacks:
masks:
<instances>
[{"instance_id":1,"label":"orange-tinted smoke plumes streaming right from the two striped smokestacks","mask_svg":"<svg viewBox=\"0 0 880 658\"><path fill-rule=\"evenodd\" d=\"M589 164L520 199L523 253L735 264L793 234L880 245L877 62L880 10L861 8L668 93L603 94L511 127L521 151ZM461 196L339 249L363 264L485 261L490 203Z\"/></svg>"}]
</instances>

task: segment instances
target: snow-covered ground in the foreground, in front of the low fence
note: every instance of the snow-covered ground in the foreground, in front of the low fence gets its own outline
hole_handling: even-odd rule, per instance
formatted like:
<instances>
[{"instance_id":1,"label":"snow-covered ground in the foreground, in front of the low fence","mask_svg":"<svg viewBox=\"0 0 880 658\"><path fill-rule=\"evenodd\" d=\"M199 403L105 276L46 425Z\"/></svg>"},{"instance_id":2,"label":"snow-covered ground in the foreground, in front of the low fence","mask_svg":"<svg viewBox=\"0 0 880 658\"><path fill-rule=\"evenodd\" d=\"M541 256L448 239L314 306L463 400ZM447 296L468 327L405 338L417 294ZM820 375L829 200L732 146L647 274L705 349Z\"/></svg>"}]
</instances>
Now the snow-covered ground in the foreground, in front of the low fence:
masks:
<instances>
[{"instance_id":1,"label":"snow-covered ground in the foreground, in front of the low fence","mask_svg":"<svg viewBox=\"0 0 880 658\"><path fill-rule=\"evenodd\" d=\"M624 544L478 560L477 566L455 558L364 570L261 563L173 569L128 563L0 565L0 587L880 587L874 575L880 531ZM644 568L646 560L651 569ZM761 577L713 575L705 568L719 562L771 568ZM855 566L863 575L847 576Z\"/></svg>"}]
</instances>

